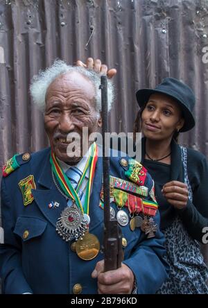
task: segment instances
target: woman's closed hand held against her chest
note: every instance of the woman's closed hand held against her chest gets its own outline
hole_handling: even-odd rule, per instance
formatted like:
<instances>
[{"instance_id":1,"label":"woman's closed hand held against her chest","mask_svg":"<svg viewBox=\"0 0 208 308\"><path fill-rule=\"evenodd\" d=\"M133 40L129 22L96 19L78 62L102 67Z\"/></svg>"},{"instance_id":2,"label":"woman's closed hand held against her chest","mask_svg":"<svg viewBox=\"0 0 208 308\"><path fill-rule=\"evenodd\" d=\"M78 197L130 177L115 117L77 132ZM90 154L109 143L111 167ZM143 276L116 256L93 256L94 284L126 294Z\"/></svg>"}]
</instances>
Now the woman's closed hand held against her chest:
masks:
<instances>
[{"instance_id":1,"label":"woman's closed hand held against her chest","mask_svg":"<svg viewBox=\"0 0 208 308\"><path fill-rule=\"evenodd\" d=\"M179 181L171 181L164 185L162 194L168 203L177 209L183 209L187 206L189 191L187 185Z\"/></svg>"}]
</instances>

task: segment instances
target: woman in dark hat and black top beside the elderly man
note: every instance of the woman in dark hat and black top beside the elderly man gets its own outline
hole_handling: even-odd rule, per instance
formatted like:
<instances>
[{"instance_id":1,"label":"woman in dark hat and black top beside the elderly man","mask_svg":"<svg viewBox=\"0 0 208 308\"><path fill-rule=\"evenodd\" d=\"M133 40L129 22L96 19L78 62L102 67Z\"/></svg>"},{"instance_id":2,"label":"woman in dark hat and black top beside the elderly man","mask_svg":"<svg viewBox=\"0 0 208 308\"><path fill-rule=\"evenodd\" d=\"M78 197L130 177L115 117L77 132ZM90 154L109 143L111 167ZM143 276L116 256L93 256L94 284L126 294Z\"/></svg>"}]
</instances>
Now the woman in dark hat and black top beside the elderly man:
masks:
<instances>
[{"instance_id":1,"label":"woman in dark hat and black top beside the elderly man","mask_svg":"<svg viewBox=\"0 0 208 308\"><path fill-rule=\"evenodd\" d=\"M208 166L204 155L177 144L179 132L195 125L195 97L175 78L137 92L135 132L144 134L142 161L155 180L161 228L171 272L157 293L208 293L200 253L208 225Z\"/></svg>"}]
</instances>

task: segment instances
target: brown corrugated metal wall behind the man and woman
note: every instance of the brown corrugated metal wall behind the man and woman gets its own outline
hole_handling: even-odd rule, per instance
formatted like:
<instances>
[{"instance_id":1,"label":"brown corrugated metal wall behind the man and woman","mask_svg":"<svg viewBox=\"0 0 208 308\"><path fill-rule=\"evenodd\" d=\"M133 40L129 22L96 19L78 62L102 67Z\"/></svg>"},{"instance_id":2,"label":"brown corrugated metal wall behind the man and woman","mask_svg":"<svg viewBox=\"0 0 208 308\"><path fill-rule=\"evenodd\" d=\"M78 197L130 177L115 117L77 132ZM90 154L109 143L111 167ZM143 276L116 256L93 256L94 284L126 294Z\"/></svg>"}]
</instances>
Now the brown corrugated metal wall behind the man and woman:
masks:
<instances>
[{"instance_id":1,"label":"brown corrugated metal wall behind the man and woman","mask_svg":"<svg viewBox=\"0 0 208 308\"><path fill-rule=\"evenodd\" d=\"M132 131L137 89L181 78L197 98L196 128L182 142L208 155L207 10L207 0L0 0L0 165L47 144L32 76L55 58L89 56L118 71L112 131Z\"/></svg>"}]
</instances>

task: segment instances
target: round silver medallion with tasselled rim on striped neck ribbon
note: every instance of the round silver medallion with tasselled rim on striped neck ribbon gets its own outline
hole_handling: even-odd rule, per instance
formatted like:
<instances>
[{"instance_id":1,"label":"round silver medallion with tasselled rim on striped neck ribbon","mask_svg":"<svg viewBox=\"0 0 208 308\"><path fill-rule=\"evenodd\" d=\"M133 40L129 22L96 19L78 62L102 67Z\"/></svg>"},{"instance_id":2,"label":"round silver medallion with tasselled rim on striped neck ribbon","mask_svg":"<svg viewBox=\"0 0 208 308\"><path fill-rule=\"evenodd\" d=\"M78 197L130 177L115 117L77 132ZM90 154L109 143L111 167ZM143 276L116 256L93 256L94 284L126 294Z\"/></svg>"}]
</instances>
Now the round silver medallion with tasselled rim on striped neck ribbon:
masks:
<instances>
[{"instance_id":1,"label":"round silver medallion with tasselled rim on striped neck ribbon","mask_svg":"<svg viewBox=\"0 0 208 308\"><path fill-rule=\"evenodd\" d=\"M50 162L52 171L55 174L55 177L58 179L64 194L67 194L67 196L73 200L71 207L66 207L62 211L61 216L56 223L56 231L64 241L70 241L74 238L77 241L79 237L80 240L82 240L85 232L89 227L89 196L94 178L96 161L98 159L98 147L95 143L92 144L90 151L91 153L89 153L87 164L85 165L83 175L78 182L78 187L76 190L73 188L73 185L71 185L69 178L67 178L66 174L60 168L53 151L51 151ZM78 192L83 183L83 180L85 179L88 168L89 180L87 182L85 202L82 205L80 197L78 196Z\"/></svg>"}]
</instances>

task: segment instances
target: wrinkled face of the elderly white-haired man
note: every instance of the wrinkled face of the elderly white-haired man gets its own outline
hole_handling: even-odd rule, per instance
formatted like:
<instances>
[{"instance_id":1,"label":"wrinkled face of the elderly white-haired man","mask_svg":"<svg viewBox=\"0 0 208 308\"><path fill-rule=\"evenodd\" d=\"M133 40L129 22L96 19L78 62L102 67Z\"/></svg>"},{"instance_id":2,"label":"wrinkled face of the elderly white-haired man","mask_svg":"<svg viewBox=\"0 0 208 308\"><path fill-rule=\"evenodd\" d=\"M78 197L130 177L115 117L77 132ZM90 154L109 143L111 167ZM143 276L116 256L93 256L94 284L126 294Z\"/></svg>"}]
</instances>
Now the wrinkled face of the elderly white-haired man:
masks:
<instances>
[{"instance_id":1,"label":"wrinkled face of the elderly white-haired man","mask_svg":"<svg viewBox=\"0 0 208 308\"><path fill-rule=\"evenodd\" d=\"M87 77L77 71L62 74L56 78L46 93L46 110L44 126L49 136L51 148L55 156L69 164L76 164L83 153L83 128L88 128L88 134L96 132L101 127L101 117L95 109L94 85ZM69 157L69 133L80 136L78 157ZM73 144L74 141L72 141ZM88 139L87 148L90 146ZM76 145L75 145L76 146ZM73 150L74 151L74 150Z\"/></svg>"}]
</instances>

